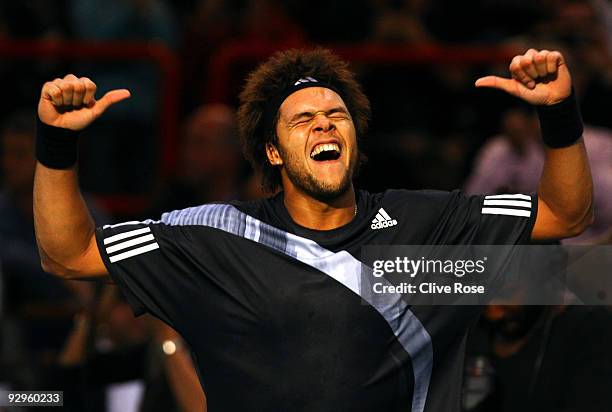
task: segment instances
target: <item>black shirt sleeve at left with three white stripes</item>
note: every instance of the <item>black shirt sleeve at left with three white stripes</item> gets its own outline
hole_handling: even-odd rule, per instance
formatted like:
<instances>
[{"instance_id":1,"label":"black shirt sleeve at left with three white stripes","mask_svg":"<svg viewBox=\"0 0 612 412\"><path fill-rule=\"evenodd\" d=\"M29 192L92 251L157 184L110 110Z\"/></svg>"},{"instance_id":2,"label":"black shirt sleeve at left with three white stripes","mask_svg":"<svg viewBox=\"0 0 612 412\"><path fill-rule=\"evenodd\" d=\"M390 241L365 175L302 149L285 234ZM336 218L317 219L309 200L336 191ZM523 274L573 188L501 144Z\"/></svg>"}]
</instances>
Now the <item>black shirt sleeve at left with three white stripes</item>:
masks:
<instances>
[{"instance_id":1,"label":"black shirt sleeve at left with three white stripes","mask_svg":"<svg viewBox=\"0 0 612 412\"><path fill-rule=\"evenodd\" d=\"M172 325L182 283L191 272L182 228L161 222L126 222L96 230L106 268L135 315L151 313Z\"/></svg>"}]
</instances>

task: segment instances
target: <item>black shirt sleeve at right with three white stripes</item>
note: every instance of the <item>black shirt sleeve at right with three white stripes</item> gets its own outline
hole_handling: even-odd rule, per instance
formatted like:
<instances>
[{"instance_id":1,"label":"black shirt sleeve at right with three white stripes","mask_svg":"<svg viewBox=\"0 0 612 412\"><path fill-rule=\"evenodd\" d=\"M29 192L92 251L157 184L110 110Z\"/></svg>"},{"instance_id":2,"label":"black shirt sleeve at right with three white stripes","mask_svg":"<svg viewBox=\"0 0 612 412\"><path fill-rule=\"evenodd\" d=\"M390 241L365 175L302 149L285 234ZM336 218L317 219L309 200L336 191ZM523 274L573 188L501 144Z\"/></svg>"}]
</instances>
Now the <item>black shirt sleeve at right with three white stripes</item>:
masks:
<instances>
[{"instance_id":1,"label":"black shirt sleeve at right with three white stripes","mask_svg":"<svg viewBox=\"0 0 612 412\"><path fill-rule=\"evenodd\" d=\"M451 193L438 233L445 244L527 244L537 210L535 193L466 196L456 191Z\"/></svg>"}]
</instances>

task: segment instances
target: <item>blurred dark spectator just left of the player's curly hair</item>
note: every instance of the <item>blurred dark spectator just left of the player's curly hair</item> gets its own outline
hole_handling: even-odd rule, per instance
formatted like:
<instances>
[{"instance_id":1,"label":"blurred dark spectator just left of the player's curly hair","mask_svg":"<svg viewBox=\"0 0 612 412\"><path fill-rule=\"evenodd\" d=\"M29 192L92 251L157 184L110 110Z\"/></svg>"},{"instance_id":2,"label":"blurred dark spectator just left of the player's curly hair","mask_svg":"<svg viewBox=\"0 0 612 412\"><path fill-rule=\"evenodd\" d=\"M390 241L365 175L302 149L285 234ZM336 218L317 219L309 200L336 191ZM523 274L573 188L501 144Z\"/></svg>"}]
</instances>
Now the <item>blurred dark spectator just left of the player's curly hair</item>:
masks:
<instances>
[{"instance_id":1,"label":"blurred dark spectator just left of the player's curly hair","mask_svg":"<svg viewBox=\"0 0 612 412\"><path fill-rule=\"evenodd\" d=\"M175 175L154 202L152 216L239 197L242 166L234 111L222 104L197 108L185 121Z\"/></svg>"}]
</instances>

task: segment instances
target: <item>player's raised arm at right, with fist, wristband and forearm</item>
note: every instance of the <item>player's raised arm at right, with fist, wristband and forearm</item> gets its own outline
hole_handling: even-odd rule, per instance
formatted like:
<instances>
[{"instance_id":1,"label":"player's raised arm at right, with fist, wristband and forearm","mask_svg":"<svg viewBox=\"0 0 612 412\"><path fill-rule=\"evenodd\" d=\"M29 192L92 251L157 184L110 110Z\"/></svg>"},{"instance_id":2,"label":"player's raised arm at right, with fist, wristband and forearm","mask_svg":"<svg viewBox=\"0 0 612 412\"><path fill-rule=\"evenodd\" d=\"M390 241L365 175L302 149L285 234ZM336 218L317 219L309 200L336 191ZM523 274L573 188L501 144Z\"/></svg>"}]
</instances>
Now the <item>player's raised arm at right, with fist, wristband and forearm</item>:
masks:
<instances>
[{"instance_id":1,"label":"player's raised arm at right, with fist, wristband and forearm","mask_svg":"<svg viewBox=\"0 0 612 412\"><path fill-rule=\"evenodd\" d=\"M511 79L482 77L476 86L501 89L538 109L546 160L531 237L579 235L593 222L593 181L565 59L557 51L530 49L512 59L510 73Z\"/></svg>"}]
</instances>

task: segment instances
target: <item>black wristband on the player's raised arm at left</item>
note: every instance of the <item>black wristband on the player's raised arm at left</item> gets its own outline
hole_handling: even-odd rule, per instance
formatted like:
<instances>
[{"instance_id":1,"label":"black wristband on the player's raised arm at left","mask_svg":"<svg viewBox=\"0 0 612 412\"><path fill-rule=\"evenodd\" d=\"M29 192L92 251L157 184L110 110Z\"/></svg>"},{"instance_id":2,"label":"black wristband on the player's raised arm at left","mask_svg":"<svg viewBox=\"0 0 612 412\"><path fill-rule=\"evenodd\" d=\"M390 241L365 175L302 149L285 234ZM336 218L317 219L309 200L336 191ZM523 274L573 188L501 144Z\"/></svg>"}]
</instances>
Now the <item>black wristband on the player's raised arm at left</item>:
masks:
<instances>
[{"instance_id":1,"label":"black wristband on the player's raised arm at left","mask_svg":"<svg viewBox=\"0 0 612 412\"><path fill-rule=\"evenodd\" d=\"M70 169L77 162L79 133L37 119L36 159L50 169Z\"/></svg>"}]
</instances>

